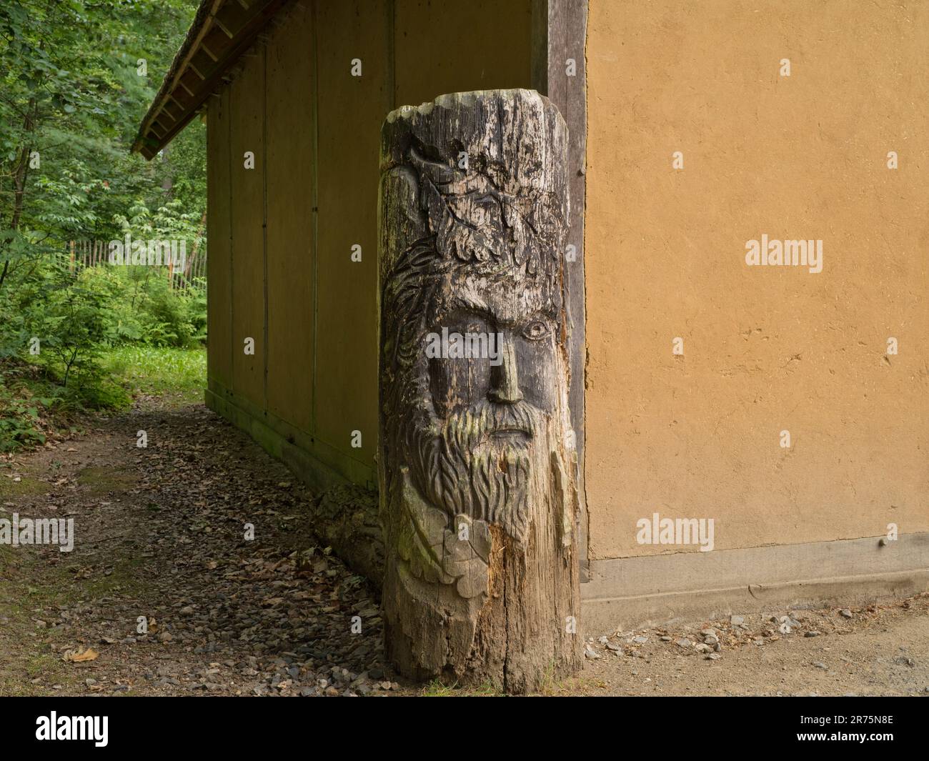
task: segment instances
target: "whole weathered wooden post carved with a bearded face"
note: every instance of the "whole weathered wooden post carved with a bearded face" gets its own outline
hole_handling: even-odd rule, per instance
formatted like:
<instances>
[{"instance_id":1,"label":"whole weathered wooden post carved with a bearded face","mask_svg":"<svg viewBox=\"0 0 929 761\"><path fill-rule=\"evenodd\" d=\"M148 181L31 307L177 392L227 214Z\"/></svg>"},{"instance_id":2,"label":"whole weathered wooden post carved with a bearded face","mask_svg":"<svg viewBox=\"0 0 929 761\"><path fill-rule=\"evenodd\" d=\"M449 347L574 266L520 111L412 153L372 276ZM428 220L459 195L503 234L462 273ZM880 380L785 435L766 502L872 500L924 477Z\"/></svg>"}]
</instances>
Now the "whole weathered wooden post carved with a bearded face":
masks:
<instances>
[{"instance_id":1,"label":"whole weathered wooden post carved with a bearded face","mask_svg":"<svg viewBox=\"0 0 929 761\"><path fill-rule=\"evenodd\" d=\"M382 130L383 608L405 676L525 693L582 665L567 162L531 90L442 96Z\"/></svg>"}]
</instances>

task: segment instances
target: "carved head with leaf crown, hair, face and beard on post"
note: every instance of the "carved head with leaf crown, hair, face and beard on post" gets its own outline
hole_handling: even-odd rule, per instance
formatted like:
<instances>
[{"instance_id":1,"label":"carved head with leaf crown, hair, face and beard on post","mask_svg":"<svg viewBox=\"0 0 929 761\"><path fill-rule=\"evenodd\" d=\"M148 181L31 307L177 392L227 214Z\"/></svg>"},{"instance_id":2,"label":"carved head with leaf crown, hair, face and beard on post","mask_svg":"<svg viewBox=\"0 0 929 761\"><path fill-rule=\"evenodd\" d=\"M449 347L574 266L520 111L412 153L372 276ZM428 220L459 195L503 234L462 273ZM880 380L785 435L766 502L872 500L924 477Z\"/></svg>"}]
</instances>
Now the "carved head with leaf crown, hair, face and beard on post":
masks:
<instances>
[{"instance_id":1,"label":"carved head with leaf crown, hair, face and beard on post","mask_svg":"<svg viewBox=\"0 0 929 761\"><path fill-rule=\"evenodd\" d=\"M387 183L415 212L394 217L403 243L384 291L396 373L386 379L386 451L431 505L522 541L530 498L547 504L564 423L568 207L552 187L563 176L543 160L551 155L523 151L507 134L491 130L490 144L473 136L467 169L424 141L432 148L406 151Z\"/></svg>"}]
</instances>

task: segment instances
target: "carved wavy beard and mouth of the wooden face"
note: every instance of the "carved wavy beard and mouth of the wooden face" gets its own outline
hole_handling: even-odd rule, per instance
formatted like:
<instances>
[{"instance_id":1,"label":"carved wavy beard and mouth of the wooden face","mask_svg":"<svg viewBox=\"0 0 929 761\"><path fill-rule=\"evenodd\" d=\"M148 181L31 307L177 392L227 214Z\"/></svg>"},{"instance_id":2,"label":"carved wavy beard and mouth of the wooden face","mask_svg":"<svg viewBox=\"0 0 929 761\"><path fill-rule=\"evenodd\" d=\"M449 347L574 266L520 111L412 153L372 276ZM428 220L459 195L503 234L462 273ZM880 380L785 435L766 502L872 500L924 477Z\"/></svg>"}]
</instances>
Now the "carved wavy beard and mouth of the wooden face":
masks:
<instances>
[{"instance_id":1,"label":"carved wavy beard and mouth of the wooden face","mask_svg":"<svg viewBox=\"0 0 929 761\"><path fill-rule=\"evenodd\" d=\"M416 431L418 481L425 497L451 516L500 525L519 542L531 518L531 479L544 472L546 418L526 401L484 400L433 417ZM440 435L435 436L436 424ZM430 433L431 431L431 433Z\"/></svg>"}]
</instances>

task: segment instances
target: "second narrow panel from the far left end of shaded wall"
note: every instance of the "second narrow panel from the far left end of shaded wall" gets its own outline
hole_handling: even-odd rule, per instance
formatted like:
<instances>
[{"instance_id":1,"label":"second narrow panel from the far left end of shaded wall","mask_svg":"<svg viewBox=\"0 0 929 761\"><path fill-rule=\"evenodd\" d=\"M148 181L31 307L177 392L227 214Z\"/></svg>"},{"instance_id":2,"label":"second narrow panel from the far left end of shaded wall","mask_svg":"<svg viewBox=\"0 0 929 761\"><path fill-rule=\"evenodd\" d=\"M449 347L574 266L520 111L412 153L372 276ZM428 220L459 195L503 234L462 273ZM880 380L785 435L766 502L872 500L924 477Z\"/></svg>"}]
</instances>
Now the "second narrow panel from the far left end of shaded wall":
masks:
<instances>
[{"instance_id":1,"label":"second narrow panel from the far left end of shaded wall","mask_svg":"<svg viewBox=\"0 0 929 761\"><path fill-rule=\"evenodd\" d=\"M231 160L229 187L232 214L232 390L264 407L264 49L243 60L245 68L231 85ZM255 154L255 168L244 166L245 151ZM244 353L246 338L255 339L255 354Z\"/></svg>"}]
</instances>

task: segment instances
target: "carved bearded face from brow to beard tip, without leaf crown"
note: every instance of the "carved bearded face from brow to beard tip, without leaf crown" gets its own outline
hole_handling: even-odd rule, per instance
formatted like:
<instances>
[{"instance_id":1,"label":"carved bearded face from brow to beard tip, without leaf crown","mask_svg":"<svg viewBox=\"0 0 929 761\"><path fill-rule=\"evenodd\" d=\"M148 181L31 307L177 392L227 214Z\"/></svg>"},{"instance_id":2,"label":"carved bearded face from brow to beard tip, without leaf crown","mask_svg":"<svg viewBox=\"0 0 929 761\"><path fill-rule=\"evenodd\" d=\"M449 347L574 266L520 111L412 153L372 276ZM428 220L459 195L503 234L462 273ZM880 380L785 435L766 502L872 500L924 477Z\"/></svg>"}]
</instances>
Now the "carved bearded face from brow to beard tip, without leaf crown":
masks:
<instances>
[{"instance_id":1,"label":"carved bearded face from brow to beard tip, without leaf crown","mask_svg":"<svg viewBox=\"0 0 929 761\"><path fill-rule=\"evenodd\" d=\"M497 523L517 539L559 422L560 301L549 271L461 265L440 277L425 312L425 335L478 336L484 343L469 346L487 350L476 356L447 343L419 364L427 412L410 451L418 485L450 515Z\"/></svg>"}]
</instances>

